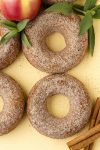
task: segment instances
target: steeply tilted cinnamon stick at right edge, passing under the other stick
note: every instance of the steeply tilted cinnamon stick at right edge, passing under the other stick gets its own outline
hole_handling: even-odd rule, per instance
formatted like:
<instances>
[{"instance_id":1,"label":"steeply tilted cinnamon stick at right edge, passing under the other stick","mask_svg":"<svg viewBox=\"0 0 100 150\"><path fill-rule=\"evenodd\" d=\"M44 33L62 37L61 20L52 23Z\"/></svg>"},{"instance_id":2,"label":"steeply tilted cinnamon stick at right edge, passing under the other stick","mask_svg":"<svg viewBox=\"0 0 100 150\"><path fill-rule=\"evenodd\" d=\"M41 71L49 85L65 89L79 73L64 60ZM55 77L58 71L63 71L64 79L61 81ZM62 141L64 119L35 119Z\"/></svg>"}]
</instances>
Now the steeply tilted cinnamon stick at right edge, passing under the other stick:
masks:
<instances>
[{"instance_id":1,"label":"steeply tilted cinnamon stick at right edge, passing under the other stick","mask_svg":"<svg viewBox=\"0 0 100 150\"><path fill-rule=\"evenodd\" d=\"M100 98L97 98L96 104L94 107L93 115L90 122L89 129L93 128L100 122ZM92 150L93 149L93 143L89 145L88 147L84 148L84 150Z\"/></svg>"}]
</instances>

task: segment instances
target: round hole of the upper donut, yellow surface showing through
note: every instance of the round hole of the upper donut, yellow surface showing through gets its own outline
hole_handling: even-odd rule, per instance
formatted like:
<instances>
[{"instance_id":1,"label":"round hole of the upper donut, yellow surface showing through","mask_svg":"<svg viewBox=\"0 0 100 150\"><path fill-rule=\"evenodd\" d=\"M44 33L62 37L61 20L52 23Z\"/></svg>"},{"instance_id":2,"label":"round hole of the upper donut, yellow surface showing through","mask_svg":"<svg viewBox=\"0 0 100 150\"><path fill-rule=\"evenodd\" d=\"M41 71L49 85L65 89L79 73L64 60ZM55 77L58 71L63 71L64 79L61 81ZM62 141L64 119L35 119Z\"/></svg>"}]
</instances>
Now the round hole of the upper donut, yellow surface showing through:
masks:
<instances>
[{"instance_id":1,"label":"round hole of the upper donut, yellow surface showing through","mask_svg":"<svg viewBox=\"0 0 100 150\"><path fill-rule=\"evenodd\" d=\"M60 52L66 47L66 42L63 35L59 32L53 32L45 38L47 47L54 51Z\"/></svg>"}]
</instances>

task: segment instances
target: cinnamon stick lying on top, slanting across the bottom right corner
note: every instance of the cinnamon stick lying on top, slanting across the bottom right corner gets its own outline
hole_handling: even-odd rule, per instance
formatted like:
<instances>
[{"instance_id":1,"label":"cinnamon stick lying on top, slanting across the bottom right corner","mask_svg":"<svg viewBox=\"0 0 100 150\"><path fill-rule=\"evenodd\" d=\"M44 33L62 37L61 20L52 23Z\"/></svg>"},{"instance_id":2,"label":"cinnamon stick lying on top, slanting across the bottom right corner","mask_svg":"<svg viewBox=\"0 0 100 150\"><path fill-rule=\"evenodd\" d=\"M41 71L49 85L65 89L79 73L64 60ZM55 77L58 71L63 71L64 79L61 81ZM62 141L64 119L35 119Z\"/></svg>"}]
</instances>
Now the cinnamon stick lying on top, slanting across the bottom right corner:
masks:
<instances>
[{"instance_id":1,"label":"cinnamon stick lying on top, slanting across the bottom right corner","mask_svg":"<svg viewBox=\"0 0 100 150\"><path fill-rule=\"evenodd\" d=\"M100 137L100 124L90 129L86 134L76 137L67 144L71 150L79 150L88 146L88 144L93 143L98 137Z\"/></svg>"}]
</instances>

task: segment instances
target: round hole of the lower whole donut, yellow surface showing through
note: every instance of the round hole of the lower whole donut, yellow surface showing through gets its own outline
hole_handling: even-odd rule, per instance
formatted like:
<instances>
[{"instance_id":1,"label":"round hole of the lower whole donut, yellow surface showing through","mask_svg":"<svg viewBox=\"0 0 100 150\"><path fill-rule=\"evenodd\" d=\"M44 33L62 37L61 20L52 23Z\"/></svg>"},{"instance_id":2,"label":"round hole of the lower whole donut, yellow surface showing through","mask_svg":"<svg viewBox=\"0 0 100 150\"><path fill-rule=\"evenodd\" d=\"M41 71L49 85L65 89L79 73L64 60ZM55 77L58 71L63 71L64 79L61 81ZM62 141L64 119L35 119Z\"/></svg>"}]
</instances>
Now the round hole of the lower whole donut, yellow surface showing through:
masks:
<instances>
[{"instance_id":1,"label":"round hole of the lower whole donut, yellow surface showing through","mask_svg":"<svg viewBox=\"0 0 100 150\"><path fill-rule=\"evenodd\" d=\"M57 94L47 98L48 112L57 118L64 118L68 114L69 108L69 100L64 95Z\"/></svg>"}]
</instances>

